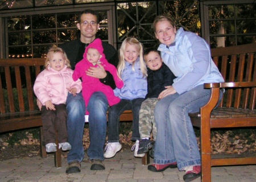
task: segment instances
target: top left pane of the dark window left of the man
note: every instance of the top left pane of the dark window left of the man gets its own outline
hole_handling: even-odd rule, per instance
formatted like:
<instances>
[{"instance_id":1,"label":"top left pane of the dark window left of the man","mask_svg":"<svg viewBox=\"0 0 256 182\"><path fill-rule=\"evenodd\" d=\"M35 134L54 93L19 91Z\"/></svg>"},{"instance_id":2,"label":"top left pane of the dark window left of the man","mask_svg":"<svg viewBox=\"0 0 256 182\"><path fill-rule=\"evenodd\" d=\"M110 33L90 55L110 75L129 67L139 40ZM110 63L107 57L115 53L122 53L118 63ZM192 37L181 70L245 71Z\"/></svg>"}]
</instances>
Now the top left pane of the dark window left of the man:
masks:
<instances>
[{"instance_id":1,"label":"top left pane of the dark window left of the man","mask_svg":"<svg viewBox=\"0 0 256 182\"><path fill-rule=\"evenodd\" d=\"M24 29L31 29L30 16L22 16L22 18L8 18L8 31L19 31Z\"/></svg>"}]
</instances>

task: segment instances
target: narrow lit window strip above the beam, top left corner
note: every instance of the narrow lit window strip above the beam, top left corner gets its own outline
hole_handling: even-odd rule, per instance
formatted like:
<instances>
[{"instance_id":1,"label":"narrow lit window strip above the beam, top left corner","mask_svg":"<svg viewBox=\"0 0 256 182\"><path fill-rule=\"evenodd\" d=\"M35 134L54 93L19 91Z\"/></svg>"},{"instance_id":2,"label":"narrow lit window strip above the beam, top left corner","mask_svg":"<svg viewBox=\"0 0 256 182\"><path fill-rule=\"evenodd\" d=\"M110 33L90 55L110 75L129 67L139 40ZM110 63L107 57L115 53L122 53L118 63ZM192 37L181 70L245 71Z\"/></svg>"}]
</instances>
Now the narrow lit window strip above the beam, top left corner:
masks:
<instances>
[{"instance_id":1,"label":"narrow lit window strip above the beam, top left corner","mask_svg":"<svg viewBox=\"0 0 256 182\"><path fill-rule=\"evenodd\" d=\"M0 2L0 10L18 9L22 7L33 7L33 1L32 0L19 0L19 1L6 0L6 1Z\"/></svg>"}]
</instances>

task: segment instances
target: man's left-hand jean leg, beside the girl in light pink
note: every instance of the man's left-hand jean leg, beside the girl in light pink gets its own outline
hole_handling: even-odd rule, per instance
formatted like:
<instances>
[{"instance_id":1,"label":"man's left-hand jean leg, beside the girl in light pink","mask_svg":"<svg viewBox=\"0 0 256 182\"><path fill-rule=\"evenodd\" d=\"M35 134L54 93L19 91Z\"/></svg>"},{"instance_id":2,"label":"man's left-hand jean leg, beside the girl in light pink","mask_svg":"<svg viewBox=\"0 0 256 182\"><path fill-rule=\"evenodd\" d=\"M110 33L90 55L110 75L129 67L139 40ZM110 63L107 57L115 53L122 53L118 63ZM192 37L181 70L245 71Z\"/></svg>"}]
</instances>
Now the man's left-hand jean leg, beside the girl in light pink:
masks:
<instances>
[{"instance_id":1,"label":"man's left-hand jean leg, beside the girl in light pink","mask_svg":"<svg viewBox=\"0 0 256 182\"><path fill-rule=\"evenodd\" d=\"M67 97L67 128L68 128L68 142L72 149L68 153L68 163L74 160L80 162L84 159L84 147L82 145L82 137L84 134L84 115L85 104L82 94L76 96L68 93Z\"/></svg>"}]
</instances>

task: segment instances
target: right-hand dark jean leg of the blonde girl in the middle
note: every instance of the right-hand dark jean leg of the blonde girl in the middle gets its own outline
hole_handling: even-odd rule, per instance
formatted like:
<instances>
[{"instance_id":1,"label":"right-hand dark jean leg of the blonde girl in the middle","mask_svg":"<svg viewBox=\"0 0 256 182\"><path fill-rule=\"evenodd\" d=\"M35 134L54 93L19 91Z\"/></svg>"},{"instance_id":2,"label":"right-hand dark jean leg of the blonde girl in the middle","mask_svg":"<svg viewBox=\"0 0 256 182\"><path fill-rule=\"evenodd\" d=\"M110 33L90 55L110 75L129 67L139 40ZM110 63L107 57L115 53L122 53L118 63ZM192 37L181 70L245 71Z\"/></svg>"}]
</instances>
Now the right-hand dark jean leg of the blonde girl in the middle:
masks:
<instances>
[{"instance_id":1,"label":"right-hand dark jean leg of the blonde girl in the middle","mask_svg":"<svg viewBox=\"0 0 256 182\"><path fill-rule=\"evenodd\" d=\"M141 109L141 104L144 98L137 98L131 100L131 111L133 112L133 134L131 136L132 141L141 139L139 135L139 109Z\"/></svg>"}]
</instances>

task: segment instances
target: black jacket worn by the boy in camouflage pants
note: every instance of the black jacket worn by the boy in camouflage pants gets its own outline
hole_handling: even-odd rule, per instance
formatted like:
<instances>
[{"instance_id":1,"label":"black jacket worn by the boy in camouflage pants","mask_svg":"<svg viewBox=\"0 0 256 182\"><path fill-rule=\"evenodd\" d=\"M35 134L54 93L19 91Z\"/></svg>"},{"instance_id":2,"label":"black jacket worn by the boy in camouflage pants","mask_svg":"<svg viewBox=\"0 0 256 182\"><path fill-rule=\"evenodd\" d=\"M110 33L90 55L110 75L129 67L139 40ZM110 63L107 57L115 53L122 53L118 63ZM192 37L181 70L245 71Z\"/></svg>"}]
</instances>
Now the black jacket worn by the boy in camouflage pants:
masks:
<instances>
[{"instance_id":1,"label":"black jacket worn by the boy in camouflage pants","mask_svg":"<svg viewBox=\"0 0 256 182\"><path fill-rule=\"evenodd\" d=\"M166 64L162 64L160 69L153 71L147 69L147 98L158 98L160 92L165 90L165 86L171 86L176 78Z\"/></svg>"}]
</instances>

